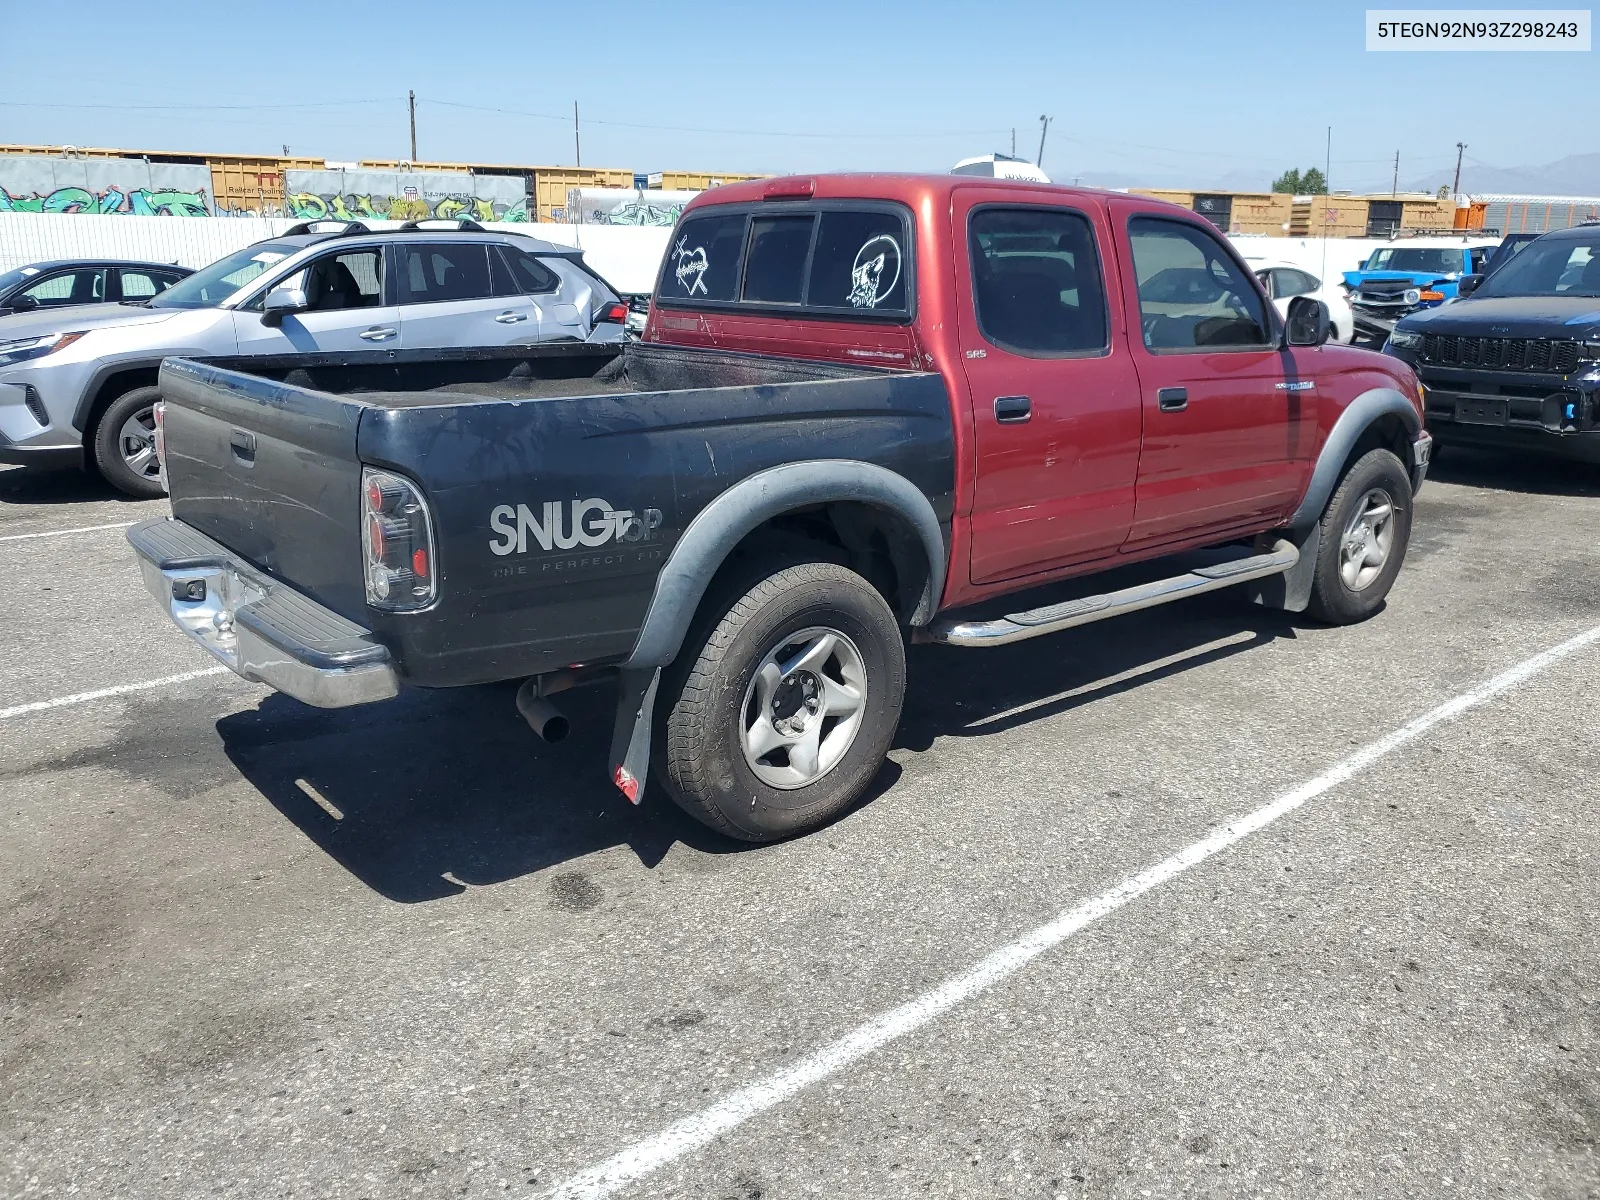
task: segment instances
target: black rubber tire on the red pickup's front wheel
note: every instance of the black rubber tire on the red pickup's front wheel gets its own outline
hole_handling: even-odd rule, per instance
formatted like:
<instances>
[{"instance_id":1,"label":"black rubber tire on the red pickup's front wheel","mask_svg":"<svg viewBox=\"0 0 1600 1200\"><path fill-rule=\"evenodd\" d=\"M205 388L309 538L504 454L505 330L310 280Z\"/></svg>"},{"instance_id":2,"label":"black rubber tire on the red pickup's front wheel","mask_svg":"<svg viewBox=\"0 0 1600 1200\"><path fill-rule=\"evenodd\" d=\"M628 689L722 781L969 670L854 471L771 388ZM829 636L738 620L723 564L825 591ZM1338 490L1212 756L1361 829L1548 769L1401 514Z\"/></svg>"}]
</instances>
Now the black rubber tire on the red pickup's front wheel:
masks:
<instances>
[{"instance_id":1,"label":"black rubber tire on the red pickup's front wheel","mask_svg":"<svg viewBox=\"0 0 1600 1200\"><path fill-rule=\"evenodd\" d=\"M1387 550L1381 563L1357 566L1357 584L1352 586L1346 578L1346 536L1354 530L1358 515L1382 509L1381 496L1387 496L1392 509ZM1322 514L1322 546L1317 550L1307 611L1333 626L1349 626L1370 618L1382 608L1384 597L1394 587L1410 541L1411 477L1392 451L1370 450L1344 472ZM1378 544L1379 536L1374 534L1368 546ZM1370 578L1365 578L1368 573Z\"/></svg>"}]
</instances>

